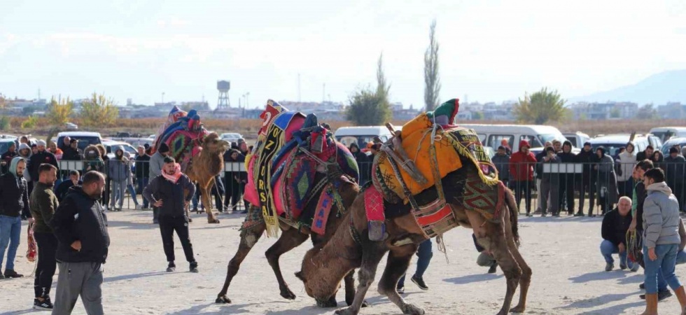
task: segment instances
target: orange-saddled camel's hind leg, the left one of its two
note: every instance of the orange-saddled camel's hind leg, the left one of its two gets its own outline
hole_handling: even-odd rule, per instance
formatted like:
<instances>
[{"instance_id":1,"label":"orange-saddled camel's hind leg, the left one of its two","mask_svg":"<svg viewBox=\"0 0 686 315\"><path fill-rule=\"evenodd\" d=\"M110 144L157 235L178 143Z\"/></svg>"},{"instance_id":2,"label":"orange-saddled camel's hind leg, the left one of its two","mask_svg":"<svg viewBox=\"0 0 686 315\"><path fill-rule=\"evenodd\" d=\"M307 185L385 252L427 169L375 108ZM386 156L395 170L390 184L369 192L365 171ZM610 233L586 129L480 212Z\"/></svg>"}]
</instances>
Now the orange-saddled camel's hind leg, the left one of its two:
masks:
<instances>
[{"instance_id":1,"label":"orange-saddled camel's hind leg, the left one of its two","mask_svg":"<svg viewBox=\"0 0 686 315\"><path fill-rule=\"evenodd\" d=\"M517 290L517 284L521 278L521 269L517 265L517 260L510 253L510 248L505 239L505 223L484 223L484 218L477 212L466 211L466 213L477 241L482 246L485 245L484 247L491 252L491 255L496 259L500 269L503 269L505 274L507 290L505 291L503 307L498 311L498 315L505 315L510 312L512 296L514 291Z\"/></svg>"}]
</instances>

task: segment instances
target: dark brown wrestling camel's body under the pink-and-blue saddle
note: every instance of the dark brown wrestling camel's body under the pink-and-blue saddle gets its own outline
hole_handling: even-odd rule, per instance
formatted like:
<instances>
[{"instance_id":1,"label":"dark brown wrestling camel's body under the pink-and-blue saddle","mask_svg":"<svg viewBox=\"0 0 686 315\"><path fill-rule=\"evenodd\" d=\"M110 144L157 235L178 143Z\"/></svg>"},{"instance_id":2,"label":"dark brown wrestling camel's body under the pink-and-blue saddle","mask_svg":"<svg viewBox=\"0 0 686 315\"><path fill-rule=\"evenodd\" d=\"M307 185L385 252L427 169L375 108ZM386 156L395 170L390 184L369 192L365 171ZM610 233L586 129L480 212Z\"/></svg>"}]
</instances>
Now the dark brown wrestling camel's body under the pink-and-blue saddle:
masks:
<instances>
[{"instance_id":1,"label":"dark brown wrestling camel's body under the pink-and-blue saddle","mask_svg":"<svg viewBox=\"0 0 686 315\"><path fill-rule=\"evenodd\" d=\"M315 179L319 180L322 176L325 175L318 173ZM344 177L345 176L341 176L338 179L329 180L332 180L333 183L338 182L337 184L339 184L339 188L337 188L337 192L343 200L344 209L348 209L353 200L355 200L355 197L357 197L359 187L357 183L354 183L353 181L350 181L349 179L346 179ZM312 211L314 210L314 207L316 207L316 199L312 202L309 202L306 205L305 211ZM259 207L251 206L248 209L248 215L246 216L246 218L251 218L255 214L260 216L260 218L262 217L261 209ZM269 265L274 270L274 275L276 275L276 281L279 282L279 290L281 291L281 297L286 298L287 300L295 300L295 294L293 294L293 292L288 288L288 284L283 279L283 275L281 274L281 267L279 266L279 257L281 257L281 255L283 255L284 253L287 253L291 249L300 246L300 244L302 244L308 238L311 238L314 246L321 246L322 244L325 244L328 241L328 239L332 237L332 235L337 230L337 227L341 222L342 216L338 216L336 214L336 211L331 211L329 214L328 221L326 223L325 235L317 235L316 233L310 233L310 231L307 229L297 230L296 228L293 228L288 224L280 222L279 228L281 228L281 236L276 241L276 243L274 243L274 245L267 249L265 255L267 256L267 261L269 262ZM250 228L243 228L241 230L241 241L238 247L238 251L230 260L227 266L224 286L222 287L221 292L217 295L217 299L215 301L216 303L231 303L231 300L226 296L231 280L238 273L238 270L241 266L241 262L243 262L248 253L250 253L253 246L258 242L258 240L260 240L260 237L262 237L262 234L265 232L265 228L265 222L258 221L258 223L252 225ZM355 294L355 280L353 278L353 275L354 272L349 272L345 276L346 302L348 305L350 305L353 302L353 297ZM317 306L336 307L336 297L330 297L325 301L317 301Z\"/></svg>"}]
</instances>

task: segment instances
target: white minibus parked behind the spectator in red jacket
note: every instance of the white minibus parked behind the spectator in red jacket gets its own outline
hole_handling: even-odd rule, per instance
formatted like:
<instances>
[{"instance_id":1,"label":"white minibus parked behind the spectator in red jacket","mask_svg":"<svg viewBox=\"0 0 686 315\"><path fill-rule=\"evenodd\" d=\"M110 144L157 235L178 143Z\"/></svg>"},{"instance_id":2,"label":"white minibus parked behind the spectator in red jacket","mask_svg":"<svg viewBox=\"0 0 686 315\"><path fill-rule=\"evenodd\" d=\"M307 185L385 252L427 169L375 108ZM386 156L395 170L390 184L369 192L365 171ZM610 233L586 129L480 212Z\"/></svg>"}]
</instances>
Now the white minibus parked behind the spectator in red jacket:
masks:
<instances>
[{"instance_id":1,"label":"white minibus parked behind the spectator in red jacket","mask_svg":"<svg viewBox=\"0 0 686 315\"><path fill-rule=\"evenodd\" d=\"M512 152L519 151L519 141L526 140L531 144L532 152L537 153L543 150L545 141L565 141L566 138L556 127L544 125L472 125L461 124L474 130L479 136L479 140L484 146L489 146L493 150L498 150L501 141L507 140L507 144L512 148ZM575 151L580 151L578 148Z\"/></svg>"}]
</instances>

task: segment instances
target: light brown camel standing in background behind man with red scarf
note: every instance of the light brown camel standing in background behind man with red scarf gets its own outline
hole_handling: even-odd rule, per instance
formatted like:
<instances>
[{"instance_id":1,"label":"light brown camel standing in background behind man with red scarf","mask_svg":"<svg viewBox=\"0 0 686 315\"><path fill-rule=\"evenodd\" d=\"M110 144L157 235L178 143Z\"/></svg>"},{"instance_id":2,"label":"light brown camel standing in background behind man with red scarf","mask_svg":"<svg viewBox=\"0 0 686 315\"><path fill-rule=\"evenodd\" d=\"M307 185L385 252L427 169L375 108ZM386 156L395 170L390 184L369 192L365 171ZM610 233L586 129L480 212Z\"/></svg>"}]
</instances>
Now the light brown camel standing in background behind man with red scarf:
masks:
<instances>
[{"instance_id":1,"label":"light brown camel standing in background behind man with red scarf","mask_svg":"<svg viewBox=\"0 0 686 315\"><path fill-rule=\"evenodd\" d=\"M198 142L202 151L193 157L186 168L186 175L190 181L196 182L200 187L202 204L207 213L207 223L219 223L212 212L211 190L215 184L215 176L222 172L223 154L229 148L229 143L220 139L216 132L211 132L204 139L198 139ZM186 215L188 215L188 207L186 207Z\"/></svg>"}]
</instances>

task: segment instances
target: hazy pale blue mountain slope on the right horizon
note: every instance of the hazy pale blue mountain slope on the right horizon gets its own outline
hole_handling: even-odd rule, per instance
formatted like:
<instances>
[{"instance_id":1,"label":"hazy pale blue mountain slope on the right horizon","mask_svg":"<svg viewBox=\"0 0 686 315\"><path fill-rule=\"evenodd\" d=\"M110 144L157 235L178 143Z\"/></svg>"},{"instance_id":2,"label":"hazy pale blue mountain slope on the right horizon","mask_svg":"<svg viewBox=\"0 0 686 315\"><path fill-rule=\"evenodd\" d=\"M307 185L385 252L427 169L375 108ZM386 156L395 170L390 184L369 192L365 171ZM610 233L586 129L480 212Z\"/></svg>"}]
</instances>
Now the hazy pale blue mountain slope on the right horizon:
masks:
<instances>
[{"instance_id":1,"label":"hazy pale blue mountain slope on the right horizon","mask_svg":"<svg viewBox=\"0 0 686 315\"><path fill-rule=\"evenodd\" d=\"M667 102L686 104L686 69L664 71L649 76L634 85L617 87L614 90L596 92L582 97L572 97L568 103L575 102L633 102L639 106Z\"/></svg>"}]
</instances>

